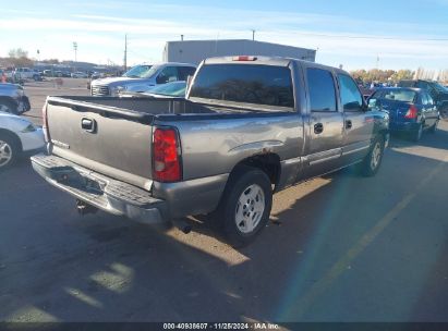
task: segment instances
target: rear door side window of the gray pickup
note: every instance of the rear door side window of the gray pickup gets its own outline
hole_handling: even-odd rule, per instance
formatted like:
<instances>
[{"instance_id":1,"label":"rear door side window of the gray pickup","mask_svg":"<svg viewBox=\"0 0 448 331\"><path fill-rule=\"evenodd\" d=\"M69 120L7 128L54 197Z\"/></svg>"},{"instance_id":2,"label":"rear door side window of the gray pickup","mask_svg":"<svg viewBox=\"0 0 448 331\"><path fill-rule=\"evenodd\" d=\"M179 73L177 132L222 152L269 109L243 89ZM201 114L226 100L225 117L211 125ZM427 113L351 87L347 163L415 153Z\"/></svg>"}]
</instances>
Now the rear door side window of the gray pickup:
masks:
<instances>
[{"instance_id":1,"label":"rear door side window of the gray pickup","mask_svg":"<svg viewBox=\"0 0 448 331\"><path fill-rule=\"evenodd\" d=\"M335 81L329 71L316 68L306 70L311 111L336 111Z\"/></svg>"}]
</instances>

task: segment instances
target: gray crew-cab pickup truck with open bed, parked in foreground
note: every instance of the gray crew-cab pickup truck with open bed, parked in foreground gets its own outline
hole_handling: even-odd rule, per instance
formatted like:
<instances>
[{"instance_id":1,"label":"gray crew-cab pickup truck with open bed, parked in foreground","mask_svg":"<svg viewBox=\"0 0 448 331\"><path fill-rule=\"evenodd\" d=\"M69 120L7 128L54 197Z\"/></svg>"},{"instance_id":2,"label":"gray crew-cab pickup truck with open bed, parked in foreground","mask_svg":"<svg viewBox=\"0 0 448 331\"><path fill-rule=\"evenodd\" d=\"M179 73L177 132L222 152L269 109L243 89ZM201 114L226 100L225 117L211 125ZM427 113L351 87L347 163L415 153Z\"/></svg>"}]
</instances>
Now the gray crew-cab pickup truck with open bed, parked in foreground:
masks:
<instances>
[{"instance_id":1,"label":"gray crew-cab pickup truck with open bed, parked in foreground","mask_svg":"<svg viewBox=\"0 0 448 331\"><path fill-rule=\"evenodd\" d=\"M183 98L48 97L34 169L77 199L143 222L209 214L243 245L273 193L359 163L374 175L388 115L348 73L294 59L213 58Z\"/></svg>"}]
</instances>

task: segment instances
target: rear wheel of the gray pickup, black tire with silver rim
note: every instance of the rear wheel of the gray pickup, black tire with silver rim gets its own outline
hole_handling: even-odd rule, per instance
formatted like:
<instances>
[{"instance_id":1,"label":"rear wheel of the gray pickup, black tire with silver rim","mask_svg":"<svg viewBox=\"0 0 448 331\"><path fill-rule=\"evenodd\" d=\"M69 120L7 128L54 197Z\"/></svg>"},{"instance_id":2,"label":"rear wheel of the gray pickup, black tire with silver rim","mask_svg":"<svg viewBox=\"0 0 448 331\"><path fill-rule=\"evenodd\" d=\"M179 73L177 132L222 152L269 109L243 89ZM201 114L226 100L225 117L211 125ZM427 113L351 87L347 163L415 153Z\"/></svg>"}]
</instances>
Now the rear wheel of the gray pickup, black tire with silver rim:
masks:
<instances>
[{"instance_id":1,"label":"rear wheel of the gray pickup, black tire with silver rim","mask_svg":"<svg viewBox=\"0 0 448 331\"><path fill-rule=\"evenodd\" d=\"M256 196L242 206L241 199L245 200L250 194L256 194ZM263 212L257 213L254 210L257 205L258 207L264 206ZM269 177L259 169L243 166L231 174L219 206L211 217L228 242L233 247L242 247L251 243L266 226L271 207L273 188ZM240 224L237 224L239 214L243 219ZM252 229L253 223L256 224Z\"/></svg>"}]
</instances>

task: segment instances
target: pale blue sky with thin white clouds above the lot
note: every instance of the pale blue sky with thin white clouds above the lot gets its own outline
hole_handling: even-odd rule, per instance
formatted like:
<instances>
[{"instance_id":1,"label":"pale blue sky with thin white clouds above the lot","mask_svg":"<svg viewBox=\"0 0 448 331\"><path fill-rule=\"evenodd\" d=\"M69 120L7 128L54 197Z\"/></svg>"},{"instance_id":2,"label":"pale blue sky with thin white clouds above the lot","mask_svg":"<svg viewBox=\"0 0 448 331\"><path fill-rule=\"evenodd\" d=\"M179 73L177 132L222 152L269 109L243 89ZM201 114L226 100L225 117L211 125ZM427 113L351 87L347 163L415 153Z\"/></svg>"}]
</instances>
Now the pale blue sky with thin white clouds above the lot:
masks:
<instances>
[{"instance_id":1,"label":"pale blue sky with thin white clouds above the lot","mask_svg":"<svg viewBox=\"0 0 448 331\"><path fill-rule=\"evenodd\" d=\"M347 70L448 69L448 0L402 1L15 1L0 0L0 57L122 63L161 60L165 41L252 38L317 49Z\"/></svg>"}]
</instances>

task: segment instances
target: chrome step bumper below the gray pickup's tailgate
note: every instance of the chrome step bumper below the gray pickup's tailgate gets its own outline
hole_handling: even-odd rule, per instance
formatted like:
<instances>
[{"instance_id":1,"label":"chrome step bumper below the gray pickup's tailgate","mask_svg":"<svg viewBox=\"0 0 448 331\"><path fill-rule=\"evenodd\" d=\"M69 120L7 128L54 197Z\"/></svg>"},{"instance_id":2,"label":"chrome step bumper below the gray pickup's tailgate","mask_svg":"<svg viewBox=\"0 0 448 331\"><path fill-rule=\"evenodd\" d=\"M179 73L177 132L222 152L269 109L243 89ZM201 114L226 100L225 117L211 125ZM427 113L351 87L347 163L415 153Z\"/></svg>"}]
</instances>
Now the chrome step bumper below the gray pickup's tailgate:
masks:
<instances>
[{"instance_id":1,"label":"chrome step bumper below the gray pickup's tailgate","mask_svg":"<svg viewBox=\"0 0 448 331\"><path fill-rule=\"evenodd\" d=\"M147 191L56 156L34 156L32 164L51 185L104 211L148 224L169 219L166 201L154 198Z\"/></svg>"}]
</instances>

